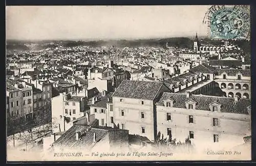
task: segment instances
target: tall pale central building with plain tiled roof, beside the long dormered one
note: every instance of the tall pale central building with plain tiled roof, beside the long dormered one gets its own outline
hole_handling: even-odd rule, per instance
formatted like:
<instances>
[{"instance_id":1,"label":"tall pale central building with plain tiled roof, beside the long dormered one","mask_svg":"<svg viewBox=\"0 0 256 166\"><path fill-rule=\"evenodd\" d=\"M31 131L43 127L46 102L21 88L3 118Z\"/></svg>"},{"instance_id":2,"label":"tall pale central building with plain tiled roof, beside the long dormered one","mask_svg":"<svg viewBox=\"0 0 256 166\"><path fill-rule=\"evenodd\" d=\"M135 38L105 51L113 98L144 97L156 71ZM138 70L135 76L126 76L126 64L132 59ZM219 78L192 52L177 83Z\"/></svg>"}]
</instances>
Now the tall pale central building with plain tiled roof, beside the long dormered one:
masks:
<instances>
[{"instance_id":1,"label":"tall pale central building with plain tiled roof, beside the long dormered one","mask_svg":"<svg viewBox=\"0 0 256 166\"><path fill-rule=\"evenodd\" d=\"M171 90L157 81L123 80L112 95L114 125L155 140L156 101Z\"/></svg>"}]
</instances>

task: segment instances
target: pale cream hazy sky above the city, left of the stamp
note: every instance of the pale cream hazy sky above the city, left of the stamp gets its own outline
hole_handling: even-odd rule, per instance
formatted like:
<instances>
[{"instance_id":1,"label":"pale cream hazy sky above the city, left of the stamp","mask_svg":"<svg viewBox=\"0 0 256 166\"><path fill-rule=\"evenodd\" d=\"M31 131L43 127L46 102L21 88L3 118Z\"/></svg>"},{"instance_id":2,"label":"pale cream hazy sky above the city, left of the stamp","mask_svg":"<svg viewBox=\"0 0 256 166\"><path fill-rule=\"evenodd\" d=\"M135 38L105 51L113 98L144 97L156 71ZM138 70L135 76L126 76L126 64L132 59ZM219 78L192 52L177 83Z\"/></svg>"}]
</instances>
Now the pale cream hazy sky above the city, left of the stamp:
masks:
<instances>
[{"instance_id":1,"label":"pale cream hazy sky above the city, left of the stamp","mask_svg":"<svg viewBox=\"0 0 256 166\"><path fill-rule=\"evenodd\" d=\"M207 35L209 6L7 6L6 39L142 39Z\"/></svg>"}]
</instances>

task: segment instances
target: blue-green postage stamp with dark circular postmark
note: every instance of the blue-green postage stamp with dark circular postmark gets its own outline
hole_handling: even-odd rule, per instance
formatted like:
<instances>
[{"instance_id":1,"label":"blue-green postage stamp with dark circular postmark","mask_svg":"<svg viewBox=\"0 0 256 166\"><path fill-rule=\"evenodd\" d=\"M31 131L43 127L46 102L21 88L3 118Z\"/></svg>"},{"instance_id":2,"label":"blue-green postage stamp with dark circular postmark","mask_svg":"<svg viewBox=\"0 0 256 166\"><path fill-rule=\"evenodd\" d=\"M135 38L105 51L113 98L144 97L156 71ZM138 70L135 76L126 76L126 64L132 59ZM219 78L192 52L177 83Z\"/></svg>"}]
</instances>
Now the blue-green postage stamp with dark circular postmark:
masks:
<instances>
[{"instance_id":1,"label":"blue-green postage stamp with dark circular postmark","mask_svg":"<svg viewBox=\"0 0 256 166\"><path fill-rule=\"evenodd\" d=\"M209 38L249 40L249 6L214 6L208 18Z\"/></svg>"}]
</instances>

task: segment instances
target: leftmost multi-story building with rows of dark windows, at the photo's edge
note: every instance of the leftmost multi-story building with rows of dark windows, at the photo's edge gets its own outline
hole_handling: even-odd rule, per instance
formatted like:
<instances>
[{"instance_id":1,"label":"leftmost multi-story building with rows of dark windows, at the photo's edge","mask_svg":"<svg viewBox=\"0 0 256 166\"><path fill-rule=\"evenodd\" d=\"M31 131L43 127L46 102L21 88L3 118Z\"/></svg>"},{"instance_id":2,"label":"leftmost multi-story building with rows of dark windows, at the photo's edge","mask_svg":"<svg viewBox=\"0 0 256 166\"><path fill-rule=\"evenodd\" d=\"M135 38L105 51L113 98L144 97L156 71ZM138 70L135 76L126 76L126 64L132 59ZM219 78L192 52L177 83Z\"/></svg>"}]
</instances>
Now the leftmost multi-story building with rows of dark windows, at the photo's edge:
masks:
<instances>
[{"instance_id":1,"label":"leftmost multi-story building with rows of dark windows, at the photo's edge","mask_svg":"<svg viewBox=\"0 0 256 166\"><path fill-rule=\"evenodd\" d=\"M33 119L32 87L14 77L7 78L6 82L9 98L8 118L16 124L31 121Z\"/></svg>"}]
</instances>

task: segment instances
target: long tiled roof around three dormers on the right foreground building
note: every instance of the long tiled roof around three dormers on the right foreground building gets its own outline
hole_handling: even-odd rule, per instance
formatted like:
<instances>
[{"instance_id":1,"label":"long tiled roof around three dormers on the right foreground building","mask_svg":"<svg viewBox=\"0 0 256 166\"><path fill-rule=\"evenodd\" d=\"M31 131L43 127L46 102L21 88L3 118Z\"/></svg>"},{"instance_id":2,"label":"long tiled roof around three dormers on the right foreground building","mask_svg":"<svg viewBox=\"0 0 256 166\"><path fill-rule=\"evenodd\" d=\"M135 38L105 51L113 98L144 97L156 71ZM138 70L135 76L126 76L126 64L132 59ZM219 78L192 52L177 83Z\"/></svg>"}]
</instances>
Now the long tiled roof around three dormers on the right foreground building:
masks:
<instances>
[{"instance_id":1,"label":"long tiled roof around three dormers on the right foreground building","mask_svg":"<svg viewBox=\"0 0 256 166\"><path fill-rule=\"evenodd\" d=\"M186 97L186 94L177 94L177 93L166 93L164 92L160 100L156 103L157 105L162 105L164 100L168 98L173 98L175 100L174 107L186 108L185 101L194 100L197 102L196 109L201 110L210 110L209 104L212 102L219 102L221 106L221 112L225 113L235 113L235 114L248 114L247 107L251 105L249 99L241 98L238 101L235 101L234 98L229 97L217 97L217 96L206 96L206 95L191 95L189 98Z\"/></svg>"}]
</instances>

